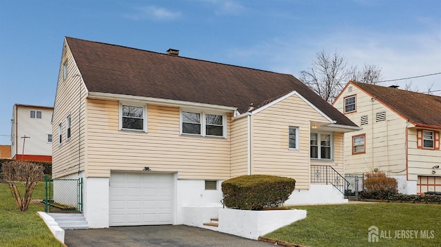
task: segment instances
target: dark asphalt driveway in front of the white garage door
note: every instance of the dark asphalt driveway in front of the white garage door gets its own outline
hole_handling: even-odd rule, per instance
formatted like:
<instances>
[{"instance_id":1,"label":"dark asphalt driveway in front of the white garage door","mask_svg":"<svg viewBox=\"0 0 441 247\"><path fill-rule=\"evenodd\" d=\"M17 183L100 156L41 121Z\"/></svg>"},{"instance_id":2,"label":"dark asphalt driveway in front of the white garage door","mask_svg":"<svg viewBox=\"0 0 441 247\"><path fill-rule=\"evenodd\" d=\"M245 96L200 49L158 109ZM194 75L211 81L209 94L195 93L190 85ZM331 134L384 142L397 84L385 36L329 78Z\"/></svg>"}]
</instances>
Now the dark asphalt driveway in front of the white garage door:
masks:
<instances>
[{"instance_id":1,"label":"dark asphalt driveway in front of the white garage door","mask_svg":"<svg viewBox=\"0 0 441 247\"><path fill-rule=\"evenodd\" d=\"M192 226L119 226L88 230L65 230L68 247L83 246L273 246Z\"/></svg>"}]
</instances>

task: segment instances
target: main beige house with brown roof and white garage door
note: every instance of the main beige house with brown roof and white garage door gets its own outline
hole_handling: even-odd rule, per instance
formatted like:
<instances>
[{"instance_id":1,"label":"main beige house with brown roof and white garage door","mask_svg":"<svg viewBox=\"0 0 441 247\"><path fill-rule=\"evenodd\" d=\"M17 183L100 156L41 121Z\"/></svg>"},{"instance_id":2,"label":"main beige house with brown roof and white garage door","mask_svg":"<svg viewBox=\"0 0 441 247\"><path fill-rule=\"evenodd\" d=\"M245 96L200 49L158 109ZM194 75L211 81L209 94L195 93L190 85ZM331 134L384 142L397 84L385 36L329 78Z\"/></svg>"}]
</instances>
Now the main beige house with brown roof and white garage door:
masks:
<instances>
[{"instance_id":1,"label":"main beige house with brown roof and white garage door","mask_svg":"<svg viewBox=\"0 0 441 247\"><path fill-rule=\"evenodd\" d=\"M67 37L52 176L84 179L91 228L182 224L247 174L296 179L290 203L345 202L343 135L358 129L289 74Z\"/></svg>"}]
</instances>

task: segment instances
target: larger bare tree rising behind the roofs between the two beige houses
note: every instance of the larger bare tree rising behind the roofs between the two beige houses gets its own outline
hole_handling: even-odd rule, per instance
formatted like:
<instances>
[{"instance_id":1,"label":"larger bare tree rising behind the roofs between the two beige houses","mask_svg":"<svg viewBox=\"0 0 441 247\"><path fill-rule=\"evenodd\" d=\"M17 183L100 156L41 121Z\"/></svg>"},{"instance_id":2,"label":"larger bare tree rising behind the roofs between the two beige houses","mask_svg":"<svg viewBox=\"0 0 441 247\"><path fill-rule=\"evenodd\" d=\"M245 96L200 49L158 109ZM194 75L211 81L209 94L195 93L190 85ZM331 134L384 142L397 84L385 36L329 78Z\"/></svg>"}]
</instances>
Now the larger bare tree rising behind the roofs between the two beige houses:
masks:
<instances>
[{"instance_id":1,"label":"larger bare tree rising behind the roofs between the two beige houses","mask_svg":"<svg viewBox=\"0 0 441 247\"><path fill-rule=\"evenodd\" d=\"M300 72L300 80L324 100L331 103L347 83L347 60L339 52L325 50L316 53L316 60L307 71Z\"/></svg>"}]
</instances>

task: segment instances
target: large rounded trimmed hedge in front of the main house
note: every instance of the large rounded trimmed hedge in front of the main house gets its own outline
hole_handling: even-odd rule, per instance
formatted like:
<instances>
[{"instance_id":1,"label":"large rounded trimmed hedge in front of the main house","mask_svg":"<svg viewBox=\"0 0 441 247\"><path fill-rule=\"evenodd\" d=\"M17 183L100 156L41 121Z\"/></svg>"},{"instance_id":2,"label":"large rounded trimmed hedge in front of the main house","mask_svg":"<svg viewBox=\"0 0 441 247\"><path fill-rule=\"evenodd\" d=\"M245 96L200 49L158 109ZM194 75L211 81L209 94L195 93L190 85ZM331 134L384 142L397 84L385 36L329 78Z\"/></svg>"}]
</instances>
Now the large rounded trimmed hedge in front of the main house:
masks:
<instances>
[{"instance_id":1,"label":"large rounded trimmed hedge in front of the main house","mask_svg":"<svg viewBox=\"0 0 441 247\"><path fill-rule=\"evenodd\" d=\"M223 202L229 208L261 210L283 205L296 180L273 175L243 175L222 183Z\"/></svg>"}]
</instances>

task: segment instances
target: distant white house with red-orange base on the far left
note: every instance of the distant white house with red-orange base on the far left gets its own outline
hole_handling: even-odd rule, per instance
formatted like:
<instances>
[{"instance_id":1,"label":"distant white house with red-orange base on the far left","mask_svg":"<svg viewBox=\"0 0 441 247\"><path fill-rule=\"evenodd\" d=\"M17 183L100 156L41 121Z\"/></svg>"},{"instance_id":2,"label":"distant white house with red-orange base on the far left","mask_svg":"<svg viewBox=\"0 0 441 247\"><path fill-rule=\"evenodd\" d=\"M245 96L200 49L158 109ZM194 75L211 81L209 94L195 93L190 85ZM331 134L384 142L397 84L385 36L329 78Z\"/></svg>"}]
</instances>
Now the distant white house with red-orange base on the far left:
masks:
<instances>
[{"instance_id":1,"label":"distant white house with red-orange base on the far left","mask_svg":"<svg viewBox=\"0 0 441 247\"><path fill-rule=\"evenodd\" d=\"M53 107L15 104L11 119L11 157L52 161Z\"/></svg>"}]
</instances>

